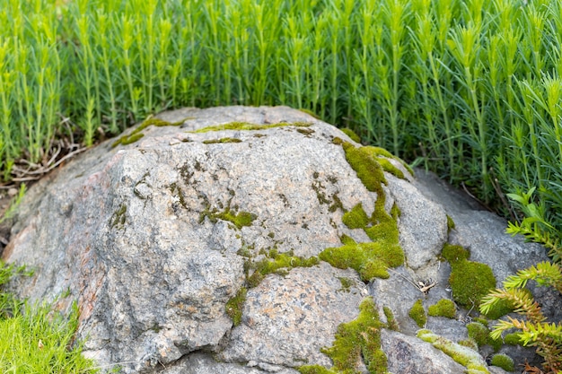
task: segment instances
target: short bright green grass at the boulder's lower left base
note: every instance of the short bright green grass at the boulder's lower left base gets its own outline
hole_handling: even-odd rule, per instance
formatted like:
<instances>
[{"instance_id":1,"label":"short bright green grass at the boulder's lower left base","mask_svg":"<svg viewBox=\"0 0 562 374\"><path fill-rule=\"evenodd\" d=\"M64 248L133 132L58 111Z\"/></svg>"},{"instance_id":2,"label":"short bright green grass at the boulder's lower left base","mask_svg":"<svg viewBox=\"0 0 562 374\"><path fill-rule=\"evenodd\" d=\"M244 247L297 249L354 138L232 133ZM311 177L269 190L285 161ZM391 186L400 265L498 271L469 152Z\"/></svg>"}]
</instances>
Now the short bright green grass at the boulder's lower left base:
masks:
<instances>
[{"instance_id":1,"label":"short bright green grass at the boulder's lower left base","mask_svg":"<svg viewBox=\"0 0 562 374\"><path fill-rule=\"evenodd\" d=\"M51 305L30 305L6 293L3 285L25 268L0 261L0 371L3 373L94 373L92 361L75 342L78 309L69 316Z\"/></svg>"}]
</instances>

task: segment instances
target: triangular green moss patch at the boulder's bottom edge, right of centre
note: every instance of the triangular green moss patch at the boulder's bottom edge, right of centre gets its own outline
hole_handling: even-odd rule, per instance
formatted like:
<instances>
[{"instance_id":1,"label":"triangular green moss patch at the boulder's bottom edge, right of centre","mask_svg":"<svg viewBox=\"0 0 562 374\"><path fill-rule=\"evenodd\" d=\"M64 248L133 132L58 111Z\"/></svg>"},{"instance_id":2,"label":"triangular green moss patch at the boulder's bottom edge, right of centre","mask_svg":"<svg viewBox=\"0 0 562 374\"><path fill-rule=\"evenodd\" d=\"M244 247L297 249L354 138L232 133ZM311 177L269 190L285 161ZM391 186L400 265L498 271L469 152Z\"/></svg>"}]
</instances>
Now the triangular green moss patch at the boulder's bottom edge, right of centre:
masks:
<instances>
[{"instance_id":1,"label":"triangular green moss patch at the boulder's bottom edge, right of centre","mask_svg":"<svg viewBox=\"0 0 562 374\"><path fill-rule=\"evenodd\" d=\"M384 373L387 368L386 355L381 350L381 328L374 301L366 298L359 306L359 316L338 326L334 344L321 351L329 356L332 368L306 365L299 368L303 374L358 373L362 361L370 373Z\"/></svg>"}]
</instances>

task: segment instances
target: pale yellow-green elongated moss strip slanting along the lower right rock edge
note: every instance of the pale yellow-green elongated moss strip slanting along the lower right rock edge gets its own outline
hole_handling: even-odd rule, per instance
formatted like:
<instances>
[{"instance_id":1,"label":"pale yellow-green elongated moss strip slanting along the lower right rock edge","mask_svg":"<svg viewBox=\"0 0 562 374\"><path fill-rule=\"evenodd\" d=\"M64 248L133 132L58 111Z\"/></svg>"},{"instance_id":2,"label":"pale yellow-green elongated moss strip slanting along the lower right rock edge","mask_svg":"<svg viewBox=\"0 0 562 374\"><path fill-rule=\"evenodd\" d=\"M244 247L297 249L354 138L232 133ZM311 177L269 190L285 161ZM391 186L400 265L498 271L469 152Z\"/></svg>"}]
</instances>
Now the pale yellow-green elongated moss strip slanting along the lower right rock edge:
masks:
<instances>
[{"instance_id":1,"label":"pale yellow-green elongated moss strip slanting along the lower right rock edge","mask_svg":"<svg viewBox=\"0 0 562 374\"><path fill-rule=\"evenodd\" d=\"M443 353L450 356L452 360L467 368L469 373L489 374L486 362L482 360L478 352L464 347L461 344L453 343L443 336L435 335L430 330L419 330L417 332L417 337L424 342L433 344L435 348L441 350Z\"/></svg>"}]
</instances>

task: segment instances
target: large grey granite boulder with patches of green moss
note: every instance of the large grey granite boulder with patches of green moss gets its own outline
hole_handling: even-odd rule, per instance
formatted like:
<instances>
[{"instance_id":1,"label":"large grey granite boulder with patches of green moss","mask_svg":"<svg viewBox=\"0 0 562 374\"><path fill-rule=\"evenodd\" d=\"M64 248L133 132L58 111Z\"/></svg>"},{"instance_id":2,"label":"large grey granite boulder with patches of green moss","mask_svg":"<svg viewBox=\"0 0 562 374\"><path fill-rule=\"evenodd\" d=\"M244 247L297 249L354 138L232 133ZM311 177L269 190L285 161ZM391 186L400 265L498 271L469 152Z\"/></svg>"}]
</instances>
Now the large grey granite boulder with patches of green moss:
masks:
<instances>
[{"instance_id":1,"label":"large grey granite boulder with patches of green moss","mask_svg":"<svg viewBox=\"0 0 562 374\"><path fill-rule=\"evenodd\" d=\"M11 284L20 296L63 311L76 301L76 336L104 368L462 372L408 317L418 299L451 299L443 245L470 248L498 286L546 258L466 197L301 111L157 117L33 186L2 255L35 269ZM466 339L468 312L426 327Z\"/></svg>"}]
</instances>

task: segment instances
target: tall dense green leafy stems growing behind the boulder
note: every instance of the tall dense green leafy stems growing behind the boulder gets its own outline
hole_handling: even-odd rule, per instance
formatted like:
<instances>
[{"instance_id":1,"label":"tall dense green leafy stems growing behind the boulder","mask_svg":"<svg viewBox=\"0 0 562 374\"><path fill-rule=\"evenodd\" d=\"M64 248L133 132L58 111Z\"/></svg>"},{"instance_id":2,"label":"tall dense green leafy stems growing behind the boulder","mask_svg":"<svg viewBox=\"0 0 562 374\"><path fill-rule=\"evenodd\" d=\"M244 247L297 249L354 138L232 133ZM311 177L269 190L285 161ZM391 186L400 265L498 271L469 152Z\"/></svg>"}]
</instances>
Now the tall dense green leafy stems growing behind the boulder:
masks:
<instances>
[{"instance_id":1,"label":"tall dense green leafy stems growing behind the boulder","mask_svg":"<svg viewBox=\"0 0 562 374\"><path fill-rule=\"evenodd\" d=\"M562 0L0 0L0 170L182 106L309 109L562 230ZM72 124L67 128L68 124ZM543 223L544 222L544 223Z\"/></svg>"}]
</instances>

